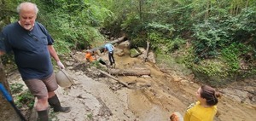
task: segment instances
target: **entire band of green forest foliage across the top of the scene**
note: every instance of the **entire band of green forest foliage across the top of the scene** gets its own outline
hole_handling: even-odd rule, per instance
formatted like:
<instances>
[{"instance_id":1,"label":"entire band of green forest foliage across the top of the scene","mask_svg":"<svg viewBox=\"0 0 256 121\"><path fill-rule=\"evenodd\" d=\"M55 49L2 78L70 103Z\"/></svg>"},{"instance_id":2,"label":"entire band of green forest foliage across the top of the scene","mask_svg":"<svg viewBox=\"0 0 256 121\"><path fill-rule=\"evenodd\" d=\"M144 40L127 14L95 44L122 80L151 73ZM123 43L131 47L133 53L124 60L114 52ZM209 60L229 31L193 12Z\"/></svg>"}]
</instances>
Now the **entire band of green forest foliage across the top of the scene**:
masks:
<instances>
[{"instance_id":1,"label":"entire band of green forest foliage across the top of the scene","mask_svg":"<svg viewBox=\"0 0 256 121\"><path fill-rule=\"evenodd\" d=\"M3 13L0 26L16 20L14 11L18 2L0 3ZM32 2L38 4L38 21L54 37L55 48L61 54L103 41L105 38L98 30L104 27L111 32L109 36L125 32L133 46L145 47L150 41L151 49L161 54L178 52L182 55L180 63L211 76L221 73L219 68L224 66L227 72L241 72L239 61L246 60L244 55L250 54L256 59L256 3L253 0ZM193 45L182 49L187 39ZM218 64L221 66L217 67ZM252 64L251 72L253 67ZM223 73L223 77L228 75Z\"/></svg>"}]
</instances>

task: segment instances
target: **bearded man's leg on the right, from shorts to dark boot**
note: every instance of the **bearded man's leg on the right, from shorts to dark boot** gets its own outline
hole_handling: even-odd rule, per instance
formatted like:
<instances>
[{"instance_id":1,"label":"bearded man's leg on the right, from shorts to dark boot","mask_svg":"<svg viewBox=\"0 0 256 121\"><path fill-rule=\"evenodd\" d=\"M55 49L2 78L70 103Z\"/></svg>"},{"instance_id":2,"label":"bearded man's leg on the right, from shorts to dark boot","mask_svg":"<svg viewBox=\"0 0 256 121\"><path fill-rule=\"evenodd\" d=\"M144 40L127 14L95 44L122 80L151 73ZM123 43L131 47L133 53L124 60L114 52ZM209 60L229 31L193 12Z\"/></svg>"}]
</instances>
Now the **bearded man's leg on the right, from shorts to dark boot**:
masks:
<instances>
[{"instance_id":1,"label":"bearded man's leg on the right, from shorts to dark boot","mask_svg":"<svg viewBox=\"0 0 256 121\"><path fill-rule=\"evenodd\" d=\"M48 89L49 106L54 108L54 112L70 112L70 107L61 107L59 98L54 92L58 88L54 73L49 78L44 79L44 84L46 84Z\"/></svg>"}]
</instances>

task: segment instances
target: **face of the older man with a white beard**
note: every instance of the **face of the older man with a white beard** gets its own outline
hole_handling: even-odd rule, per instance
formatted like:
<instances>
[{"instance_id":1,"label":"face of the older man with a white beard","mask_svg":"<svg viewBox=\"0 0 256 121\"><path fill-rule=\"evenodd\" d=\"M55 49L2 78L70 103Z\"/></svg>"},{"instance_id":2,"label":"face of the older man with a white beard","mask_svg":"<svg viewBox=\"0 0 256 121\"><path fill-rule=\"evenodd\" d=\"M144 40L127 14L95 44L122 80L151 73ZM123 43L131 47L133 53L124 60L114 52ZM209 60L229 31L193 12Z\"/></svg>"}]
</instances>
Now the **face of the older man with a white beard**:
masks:
<instances>
[{"instance_id":1,"label":"face of the older man with a white beard","mask_svg":"<svg viewBox=\"0 0 256 121\"><path fill-rule=\"evenodd\" d=\"M24 29L31 31L36 19L37 14L33 7L28 7L20 11L20 26Z\"/></svg>"}]
</instances>

